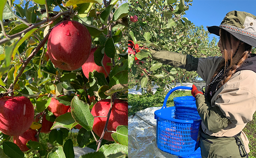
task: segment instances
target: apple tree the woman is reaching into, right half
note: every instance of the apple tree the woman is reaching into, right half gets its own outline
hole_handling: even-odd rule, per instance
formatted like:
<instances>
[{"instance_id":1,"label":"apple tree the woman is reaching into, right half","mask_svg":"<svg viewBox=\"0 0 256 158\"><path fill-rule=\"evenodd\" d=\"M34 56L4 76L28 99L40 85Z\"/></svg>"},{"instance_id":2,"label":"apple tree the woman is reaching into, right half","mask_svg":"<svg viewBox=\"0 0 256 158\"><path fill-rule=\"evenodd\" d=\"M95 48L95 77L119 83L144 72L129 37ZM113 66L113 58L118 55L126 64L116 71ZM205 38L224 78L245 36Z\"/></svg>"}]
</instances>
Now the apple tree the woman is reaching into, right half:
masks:
<instances>
[{"instance_id":1,"label":"apple tree the woman is reaching into, right half","mask_svg":"<svg viewBox=\"0 0 256 158\"><path fill-rule=\"evenodd\" d=\"M186 18L186 11L191 6L192 0L130 0L129 41L134 43L134 48L128 51L129 83L136 80L137 88L144 87L150 93L152 81L164 88L175 81L191 81L198 77L196 72L152 60L150 51L142 48L195 57L218 55L216 38L209 41L209 32Z\"/></svg>"}]
</instances>

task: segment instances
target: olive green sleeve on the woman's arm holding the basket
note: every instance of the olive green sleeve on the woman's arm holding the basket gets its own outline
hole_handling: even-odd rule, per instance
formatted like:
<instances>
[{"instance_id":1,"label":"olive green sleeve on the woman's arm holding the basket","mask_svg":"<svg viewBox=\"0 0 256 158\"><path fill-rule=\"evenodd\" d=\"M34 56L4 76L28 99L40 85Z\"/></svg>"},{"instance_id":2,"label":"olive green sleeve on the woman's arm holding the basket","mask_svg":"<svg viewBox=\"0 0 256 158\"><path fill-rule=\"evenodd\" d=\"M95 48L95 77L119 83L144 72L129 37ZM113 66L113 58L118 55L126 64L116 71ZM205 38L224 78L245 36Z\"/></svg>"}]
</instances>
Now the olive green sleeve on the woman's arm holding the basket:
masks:
<instances>
[{"instance_id":1,"label":"olive green sleeve on the woman's arm holding the basket","mask_svg":"<svg viewBox=\"0 0 256 158\"><path fill-rule=\"evenodd\" d=\"M195 99L197 111L210 132L216 133L227 127L230 120L224 116L219 107L212 107L203 94L197 94Z\"/></svg>"}]
</instances>

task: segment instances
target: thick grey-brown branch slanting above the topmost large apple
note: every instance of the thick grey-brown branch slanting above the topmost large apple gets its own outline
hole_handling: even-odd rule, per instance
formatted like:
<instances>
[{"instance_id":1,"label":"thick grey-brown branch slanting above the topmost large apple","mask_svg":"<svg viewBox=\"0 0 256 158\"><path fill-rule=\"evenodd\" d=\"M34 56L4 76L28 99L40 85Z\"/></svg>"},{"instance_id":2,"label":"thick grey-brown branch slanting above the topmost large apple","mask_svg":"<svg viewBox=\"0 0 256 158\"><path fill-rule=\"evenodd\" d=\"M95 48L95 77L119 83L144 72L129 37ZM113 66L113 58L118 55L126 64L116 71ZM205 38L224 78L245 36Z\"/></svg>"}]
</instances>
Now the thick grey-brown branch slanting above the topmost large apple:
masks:
<instances>
[{"instance_id":1,"label":"thick grey-brown branch slanting above the topmost large apple","mask_svg":"<svg viewBox=\"0 0 256 158\"><path fill-rule=\"evenodd\" d=\"M54 20L56 20L58 17L60 17L61 15L65 15L65 14L69 14L69 11L66 11L66 12L59 12L55 17L50 18L49 21L54 21ZM42 24L45 24L45 23L47 23L47 20L40 21L40 22L38 22L38 23L32 24L32 25L31 25L30 27L28 27L27 29L25 29L25 30L23 30L23 31L21 31L21 32L19 32L19 33L16 33L16 34L14 34L14 35L9 36L9 39L8 39L8 38L1 39L1 40L0 40L0 45L6 43L6 42L8 42L8 41L10 41L11 39L17 38L17 37L21 36L22 33L27 33L27 32L29 32L30 30L32 30L32 29L34 29L34 28L36 28L36 27L38 27L38 26L40 26L40 25L42 25Z\"/></svg>"}]
</instances>

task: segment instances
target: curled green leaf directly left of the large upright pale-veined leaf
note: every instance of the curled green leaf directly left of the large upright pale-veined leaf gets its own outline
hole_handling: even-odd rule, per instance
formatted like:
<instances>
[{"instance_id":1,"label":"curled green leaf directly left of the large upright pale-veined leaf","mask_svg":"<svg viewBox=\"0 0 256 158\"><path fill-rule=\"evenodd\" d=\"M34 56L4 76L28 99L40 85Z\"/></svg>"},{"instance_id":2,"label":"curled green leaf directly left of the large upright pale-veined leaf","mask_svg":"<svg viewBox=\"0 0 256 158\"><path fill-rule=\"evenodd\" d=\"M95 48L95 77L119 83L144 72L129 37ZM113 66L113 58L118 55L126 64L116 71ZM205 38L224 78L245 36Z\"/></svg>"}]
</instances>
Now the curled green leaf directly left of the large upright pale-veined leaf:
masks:
<instances>
[{"instance_id":1,"label":"curled green leaf directly left of the large upright pale-veined leaf","mask_svg":"<svg viewBox=\"0 0 256 158\"><path fill-rule=\"evenodd\" d=\"M55 119L51 129L67 128L70 130L76 125L78 125L78 123L76 123L76 121L73 119L72 114L65 113Z\"/></svg>"}]
</instances>

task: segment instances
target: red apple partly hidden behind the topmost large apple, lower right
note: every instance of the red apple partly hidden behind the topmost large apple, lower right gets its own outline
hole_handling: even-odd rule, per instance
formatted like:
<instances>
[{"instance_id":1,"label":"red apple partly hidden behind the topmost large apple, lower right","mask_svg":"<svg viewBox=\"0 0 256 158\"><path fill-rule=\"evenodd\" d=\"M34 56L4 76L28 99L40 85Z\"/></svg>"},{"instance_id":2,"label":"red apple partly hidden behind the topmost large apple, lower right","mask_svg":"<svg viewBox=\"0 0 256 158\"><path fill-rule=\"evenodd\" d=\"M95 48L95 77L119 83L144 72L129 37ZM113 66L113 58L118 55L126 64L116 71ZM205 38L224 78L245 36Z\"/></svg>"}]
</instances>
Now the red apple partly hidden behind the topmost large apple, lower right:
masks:
<instances>
[{"instance_id":1,"label":"red apple partly hidden behind the topmost large apple, lower right","mask_svg":"<svg viewBox=\"0 0 256 158\"><path fill-rule=\"evenodd\" d=\"M108 74L110 73L111 70L111 66L107 66L107 63L111 63L111 58L108 57L105 53L104 53L104 57L103 57L103 65L106 69L106 71L104 70L103 66L98 66L95 62L94 62L94 52L97 50L97 48L92 48L91 49L91 54L89 56L89 58L87 59L87 61L84 63L84 65L82 65L82 70L84 72L84 75L86 78L89 78L89 72L93 72L93 70L98 71L99 73L102 72L105 75L105 78L108 76Z\"/></svg>"}]
</instances>

